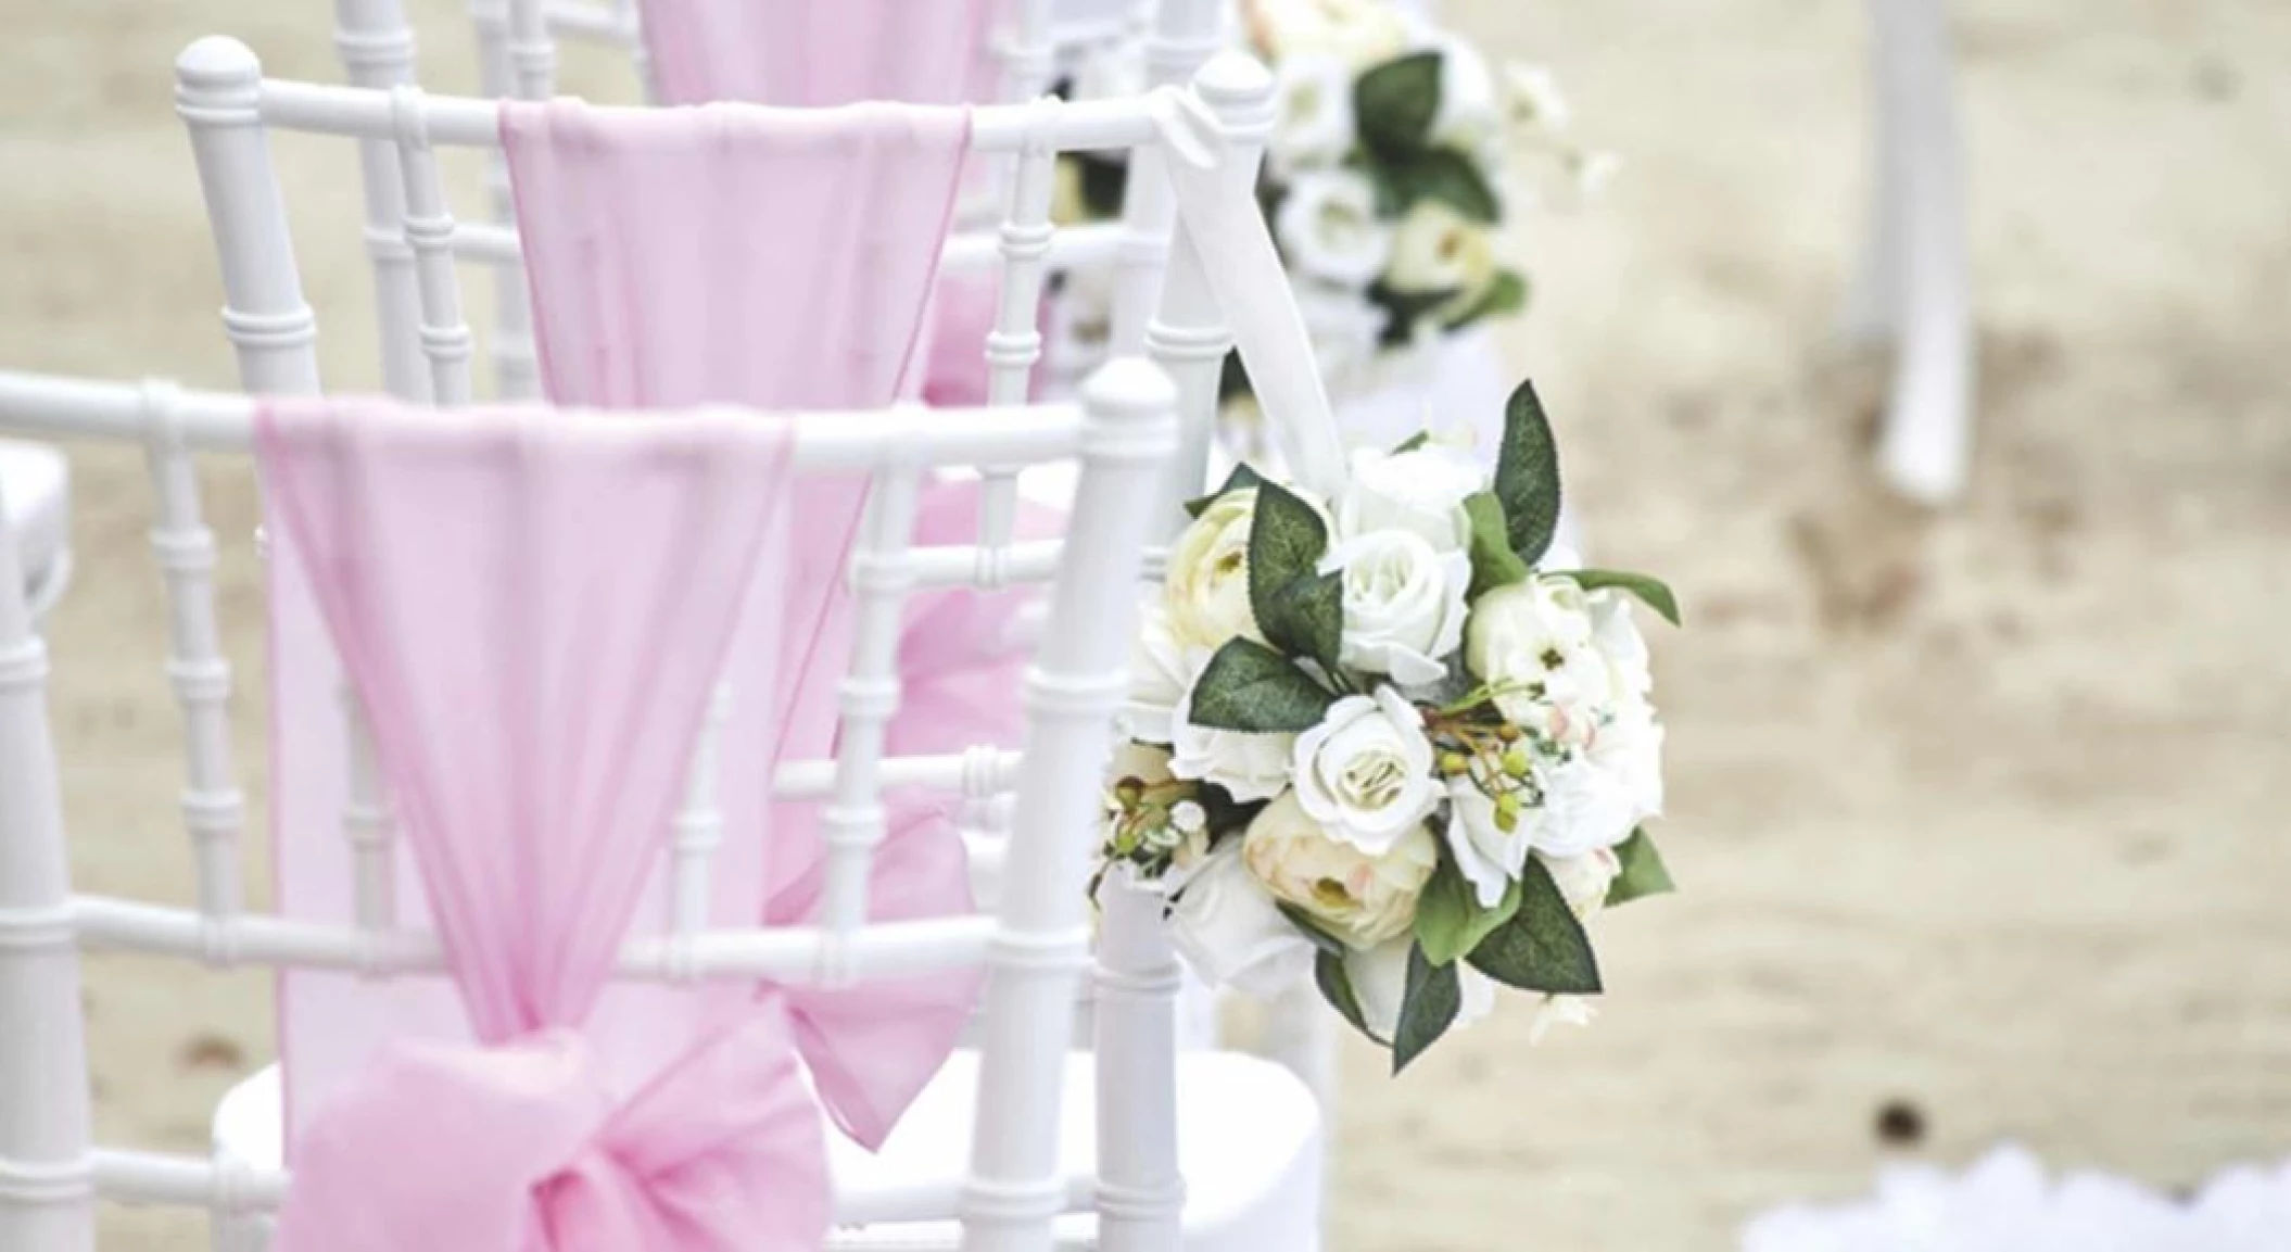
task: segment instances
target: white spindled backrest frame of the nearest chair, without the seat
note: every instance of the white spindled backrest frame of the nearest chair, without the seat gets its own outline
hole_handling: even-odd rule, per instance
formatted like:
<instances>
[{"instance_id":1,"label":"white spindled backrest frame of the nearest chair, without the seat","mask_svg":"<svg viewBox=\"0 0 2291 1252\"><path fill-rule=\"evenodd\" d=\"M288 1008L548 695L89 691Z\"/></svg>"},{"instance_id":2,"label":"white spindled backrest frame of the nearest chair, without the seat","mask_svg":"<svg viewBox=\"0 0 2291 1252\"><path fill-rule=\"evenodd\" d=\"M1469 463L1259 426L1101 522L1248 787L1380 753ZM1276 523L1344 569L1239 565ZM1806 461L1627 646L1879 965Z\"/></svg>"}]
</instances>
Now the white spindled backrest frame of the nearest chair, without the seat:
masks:
<instances>
[{"instance_id":1,"label":"white spindled backrest frame of the nearest chair, without the seat","mask_svg":"<svg viewBox=\"0 0 2291 1252\"><path fill-rule=\"evenodd\" d=\"M82 1043L80 947L133 949L208 965L360 970L380 984L438 977L433 933L364 917L344 926L247 913L238 881L241 800L227 757L229 670L220 658L213 564L215 541L199 518L192 452L243 454L254 399L179 392L170 385L105 385L0 374L0 431L140 443L158 491L153 550L172 605L167 672L190 738L183 819L197 848L197 906L73 897L60 812L57 759L46 711L46 654L21 594L11 537L0 534L0 1247L87 1252L96 1197L181 1204L220 1215L275 1208L286 1176L241 1163L133 1149L96 1149ZM962 1192L967 1245L1047 1247L1049 1222L1065 1208L1058 1176L1061 1064L1072 1027L1070 1002L1088 963L1086 830L1097 816L1113 713L1125 697L1123 665L1134 635L1132 585L1157 530L1164 461L1175 445L1175 392L1150 365L1123 360L1095 376L1079 406L976 410L891 408L793 415L797 475L871 475L871 521L850 557L861 605L859 644L843 681L843 729L834 759L784 761L774 793L827 798L827 890L811 926L717 926L632 938L616 975L653 984L754 981L784 986L916 977L985 965L987 1023L981 1055L981 1130ZM726 413L722 420L742 420ZM745 417L754 420L754 417ZM1049 560L1003 560L987 546L910 548L921 475L939 465L1029 465L1081 461L1081 493L1068 539ZM898 686L882 647L903 596L914 587L965 582L987 569L1024 569L1052 582L1052 631L1026 681L1026 748L994 754L889 757L884 727ZM694 752L694 803L710 782L706 743ZM866 922L873 844L882 835L882 793L914 782L951 784L992 773L1017 791L1003 899L994 917ZM309 837L312 832L296 832ZM371 839L355 823L351 839ZM683 887L680 844L660 878ZM357 860L360 892L376 862ZM745 922L745 920L742 920ZM1162 970L1171 972L1171 970ZM1109 986L1150 991L1132 970ZM1166 1000L1166 997L1164 997ZM1150 1004L1148 1011L1155 1011ZM1166 1002L1157 1009L1166 1014ZM1129 1018L1136 1020L1136 1018ZM1166 1057L1164 1057L1166 1059ZM1102 1222L1175 1220L1175 1158L1148 1158L1136 1144L1168 1142L1173 1108L1132 1098L1107 1135L1129 1144L1107 1163ZM1159 1124L1152 1126L1152 1124ZM1166 1211L1136 1204L1164 1197ZM880 1220L905 1197L839 1195L843 1222Z\"/></svg>"}]
</instances>

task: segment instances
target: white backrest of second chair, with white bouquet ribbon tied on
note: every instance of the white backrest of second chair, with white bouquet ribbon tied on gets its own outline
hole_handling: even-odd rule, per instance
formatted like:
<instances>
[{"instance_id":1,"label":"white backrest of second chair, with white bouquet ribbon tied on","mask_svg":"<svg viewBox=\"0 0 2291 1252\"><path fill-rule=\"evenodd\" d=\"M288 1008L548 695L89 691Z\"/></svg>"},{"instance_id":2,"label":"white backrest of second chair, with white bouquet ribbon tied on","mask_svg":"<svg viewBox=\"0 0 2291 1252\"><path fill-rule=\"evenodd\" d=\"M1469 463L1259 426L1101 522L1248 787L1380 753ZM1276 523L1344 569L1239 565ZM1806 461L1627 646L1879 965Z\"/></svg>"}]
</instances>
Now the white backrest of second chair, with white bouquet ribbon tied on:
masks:
<instances>
[{"instance_id":1,"label":"white backrest of second chair, with white bouquet ribbon tied on","mask_svg":"<svg viewBox=\"0 0 2291 1252\"><path fill-rule=\"evenodd\" d=\"M992 236L948 241L944 257L946 268L999 268L997 321L983 349L990 404L1019 404L1029 394L1042 353L1036 319L1049 266L1107 257L1118 273L1111 353L1143 351L1178 383L1184 433L1171 500L1198 493L1217 381L1235 344L1294 472L1322 488L1343 477L1310 339L1253 199L1272 92L1262 66L1221 55L1182 89L971 112L971 149L1015 158L1001 227ZM385 351L385 390L415 401L470 399L474 335L463 316L456 261L522 264L522 252L513 229L454 218L435 147L497 151L495 101L428 96L406 85L380 92L266 80L243 44L202 39L176 62L176 112L190 128L222 266L225 328L247 390L318 390L312 314L270 161L268 131L280 128L360 140L369 213L376 206L394 213L387 222L369 216L367 241L389 268L378 282L385 349L406 339L399 330L410 323L415 355ZM1132 179L1136 190L1120 222L1052 227L1054 161L1079 149L1132 151L1139 170L1152 170ZM385 163L396 177L376 174ZM983 493L990 541L1008 539L1015 500L1015 477L990 472Z\"/></svg>"}]
</instances>

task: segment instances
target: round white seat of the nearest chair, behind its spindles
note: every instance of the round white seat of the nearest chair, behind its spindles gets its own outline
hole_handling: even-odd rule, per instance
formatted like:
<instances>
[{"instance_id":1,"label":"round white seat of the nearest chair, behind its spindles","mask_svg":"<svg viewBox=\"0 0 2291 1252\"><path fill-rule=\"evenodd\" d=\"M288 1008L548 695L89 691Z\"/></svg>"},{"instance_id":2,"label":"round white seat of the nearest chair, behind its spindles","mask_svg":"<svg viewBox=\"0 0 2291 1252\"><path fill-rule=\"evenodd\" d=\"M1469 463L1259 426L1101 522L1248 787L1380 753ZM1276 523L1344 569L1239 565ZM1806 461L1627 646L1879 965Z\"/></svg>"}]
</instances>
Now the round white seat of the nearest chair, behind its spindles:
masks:
<instances>
[{"instance_id":1,"label":"round white seat of the nearest chair, behind its spindles","mask_svg":"<svg viewBox=\"0 0 2291 1252\"><path fill-rule=\"evenodd\" d=\"M1065 1057L1065 1114L1058 1156L1068 1179L1061 1247L1093 1247L1088 1213L1095 1183L1095 1069L1086 1053ZM836 1215L832 1247L923 1252L960 1245L962 1169L971 1153L978 1053L955 1053L914 1101L880 1153L829 1133ZM257 1169L282 1167L277 1066L268 1066L215 1108L215 1156ZM1320 1247L1320 1108L1285 1069L1239 1053L1178 1057L1178 1153L1187 1181L1189 1252L1313 1252ZM261 1247L261 1234L234 1252Z\"/></svg>"}]
</instances>

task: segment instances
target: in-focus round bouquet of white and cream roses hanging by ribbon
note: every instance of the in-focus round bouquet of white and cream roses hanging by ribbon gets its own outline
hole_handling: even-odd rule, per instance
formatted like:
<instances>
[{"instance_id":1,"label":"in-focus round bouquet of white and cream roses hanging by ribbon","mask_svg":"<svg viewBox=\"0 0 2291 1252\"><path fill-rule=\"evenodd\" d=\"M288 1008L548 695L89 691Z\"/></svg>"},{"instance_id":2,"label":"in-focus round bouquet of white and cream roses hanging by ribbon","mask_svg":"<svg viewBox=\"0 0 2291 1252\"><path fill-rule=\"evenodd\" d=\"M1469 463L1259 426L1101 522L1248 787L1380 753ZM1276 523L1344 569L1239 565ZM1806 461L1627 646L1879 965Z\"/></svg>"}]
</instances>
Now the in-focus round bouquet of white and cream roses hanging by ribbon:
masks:
<instances>
[{"instance_id":1,"label":"in-focus round bouquet of white and cream roses hanging by ribbon","mask_svg":"<svg viewBox=\"0 0 2291 1252\"><path fill-rule=\"evenodd\" d=\"M1521 383L1494 482L1411 438L1336 500L1246 465L1189 504L1134 660L1104 867L1159 881L1210 984L1310 972L1409 1064L1494 984L1583 1020L1595 913L1670 878L1663 729L1631 601L1569 569L1551 427ZM1102 869L1104 871L1104 869Z\"/></svg>"}]
</instances>

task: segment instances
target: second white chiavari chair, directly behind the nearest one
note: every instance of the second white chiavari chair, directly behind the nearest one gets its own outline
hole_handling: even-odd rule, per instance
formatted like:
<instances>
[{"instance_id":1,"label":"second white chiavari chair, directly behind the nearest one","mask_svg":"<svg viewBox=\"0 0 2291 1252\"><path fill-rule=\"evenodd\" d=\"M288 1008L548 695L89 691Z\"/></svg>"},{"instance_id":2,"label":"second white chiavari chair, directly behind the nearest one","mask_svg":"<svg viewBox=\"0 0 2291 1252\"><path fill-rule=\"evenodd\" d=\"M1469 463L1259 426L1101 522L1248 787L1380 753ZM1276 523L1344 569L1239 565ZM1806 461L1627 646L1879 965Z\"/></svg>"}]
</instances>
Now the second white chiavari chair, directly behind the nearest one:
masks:
<instances>
[{"instance_id":1,"label":"second white chiavari chair, directly behind the nearest one","mask_svg":"<svg viewBox=\"0 0 2291 1252\"><path fill-rule=\"evenodd\" d=\"M1026 394L1026 374L1040 351L1040 335L1033 328L1038 294L1047 261L1061 248L1058 232L1047 220L1049 174L1054 154L1072 147L1118 147L1139 156L1184 161L1196 172L1189 186L1198 199L1203 195L1230 197L1233 213L1219 218L1239 229L1262 232L1262 220L1249 199L1253 170L1262 144L1265 105L1269 80L1262 69L1242 60L1226 60L1207 66L1194 87L1180 92L1164 87L1136 101L1107 105L1063 105L1040 101L1031 105L983 108L974 115L974 142L983 151L1013 154L1017 177L1013 179L1010 213L992 236L992 250L974 248L974 257L985 264L1001 264L1001 316L997 332L987 342L992 362L992 404L1017 404ZM396 225L410 259L412 296L419 314L417 344L426 394L442 401L463 401L472 392L470 358L472 330L463 321L456 282L456 261L502 261L513 259L518 243L513 232L502 227L456 225L442 199L442 181L435 170L435 149L447 144L490 149L499 140L497 105L490 101L424 96L412 87L392 92L314 87L300 83L263 80L252 53L227 39L211 39L192 46L179 62L179 112L190 126L192 149L199 165L202 190L206 195L211 225L227 291L225 328L241 362L241 376L254 392L314 392L318 388L312 355L312 314L302 300L300 277L293 264L293 241L284 225L282 193L270 167L266 128L316 131L383 144L399 167L401 213ZM371 165L369 165L371 167ZM1136 211L1120 222L1125 257L1139 259L1134 277L1148 287L1129 326L1132 339L1143 344L1175 381L1180 394L1180 456L1178 468L1162 484L1164 516L1178 521L1175 500L1198 491L1207 456L1210 415L1217 394L1217 369L1235 335L1223 328L1230 321L1242 330L1242 349L1267 360L1267 388L1278 394L1269 404L1272 413L1294 415L1288 427L1297 438L1292 461L1322 475L1322 484L1338 482L1340 459L1326 420L1326 401L1320 394L1301 326L1288 300L1288 289L1274 282L1251 284L1239 296L1228 291L1221 305L1212 294L1212 277L1203 264L1205 241L1189 236L1180 222L1178 179L1168 179L1162 197L1141 197ZM1203 190L1207 186L1207 190ZM1221 227L1233 229L1233 227ZM1175 243L1171 234L1175 232ZM1274 264L1269 241L1265 261ZM951 252L967 245L955 243ZM1162 284L1164 257L1175 257ZM951 257L953 259L953 257ZM1150 261L1150 266L1146 264ZM1230 275L1226 275L1230 277ZM1152 303L1155 289L1159 305ZM1285 401L1285 404L1283 404ZM971 585L997 587L1017 578L1040 578L1054 562L1054 546L1013 543L1015 482L1017 465L985 463L983 468L983 521L978 564L965 569ZM355 709L353 741L357 741ZM1008 777L990 761L974 757L951 759L942 775L930 782L946 789L962 787L969 800L1003 798ZM357 775L353 775L357 782ZM362 860L385 862L387 814L380 796L371 789L353 793L346 814L346 830L360 846ZM685 855L692 864L703 862L708 844L706 830L694 830ZM1006 860L997 842L981 842L974 848L974 864ZM383 892L376 892L383 894ZM1150 910L1155 922L1159 910ZM1111 922L1109 922L1111 926ZM1173 972L1164 961L1157 970ZM1120 995L1141 993L1152 997L1148 1016L1164 1025L1146 1030L1146 1039L1157 1048L1157 1064L1166 1069L1168 1048L1168 997L1159 981L1116 979L1107 984L1113 995L1102 995L1113 1004ZM1136 986L1132 986L1136 984ZM1150 984L1150 986L1148 986ZM1143 991L1141 991L1143 988ZM1118 1014L1118 1020L1134 1023L1136 1014ZM1123 1039L1129 1039L1129 1030ZM1120 1055L1120 1043L1116 1053ZM1079 1059L1074 1064L1088 1064ZM1203 1062L1212 1064L1212 1062ZM1214 1064L1244 1064L1226 1057ZM1235 1071L1253 1073L1253 1071ZM1141 1087L1150 1080L1129 1080L1125 1087ZM275 1101L275 1094L270 1096ZM1214 1105L1217 1101L1212 1101ZM243 1087L234 1098L236 1108L263 1110L261 1085ZM273 1105L275 1108L275 1105ZM953 1105L937 1124L960 1124L967 1105ZM222 1128L236 1135L236 1124L259 1126L263 1117L234 1121L225 1117ZM270 1117L275 1121L275 1112ZM1310 1119L1308 1119L1310 1121ZM1274 1126L1294 1128L1294 1119L1276 1119ZM259 1133L254 1133L259 1140ZM1317 1140L1297 1137L1290 1147L1310 1149L1310 1160L1294 1176L1281 1183L1288 1197L1310 1197L1317 1186ZM1253 1151L1267 1151L1262 1144ZM937 1158L919 1151L916 1158ZM1272 1151L1269 1160L1288 1160ZM1246 1179L1249 1172L1217 1169L1219 1179ZM1283 1202L1294 1211L1294 1202ZM1150 1206L1148 1206L1150 1208ZM1235 1222L1255 1220L1262 1213L1251 1204L1246 1188L1233 1195L1205 1195L1196 1208L1203 1222L1214 1229L1237 1229ZM1290 1238L1310 1238L1310 1218L1288 1222Z\"/></svg>"}]
</instances>

